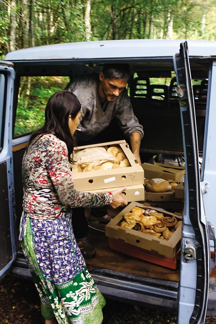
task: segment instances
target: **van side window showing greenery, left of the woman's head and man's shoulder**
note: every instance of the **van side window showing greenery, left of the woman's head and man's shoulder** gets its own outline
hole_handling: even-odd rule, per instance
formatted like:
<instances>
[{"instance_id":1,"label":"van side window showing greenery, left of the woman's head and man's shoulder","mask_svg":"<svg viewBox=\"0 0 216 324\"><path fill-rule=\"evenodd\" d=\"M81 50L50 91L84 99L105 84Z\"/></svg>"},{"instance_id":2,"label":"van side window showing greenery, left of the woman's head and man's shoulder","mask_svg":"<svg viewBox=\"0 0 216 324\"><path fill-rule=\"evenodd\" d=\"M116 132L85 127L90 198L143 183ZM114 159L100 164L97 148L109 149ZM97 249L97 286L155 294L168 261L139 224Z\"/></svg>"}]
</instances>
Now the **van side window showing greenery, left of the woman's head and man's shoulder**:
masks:
<instances>
[{"instance_id":1,"label":"van side window showing greenery, left of the woman's head and man's shoulder","mask_svg":"<svg viewBox=\"0 0 216 324\"><path fill-rule=\"evenodd\" d=\"M65 89L68 82L69 78L65 76L22 76L13 137L42 127L48 99L57 91Z\"/></svg>"}]
</instances>

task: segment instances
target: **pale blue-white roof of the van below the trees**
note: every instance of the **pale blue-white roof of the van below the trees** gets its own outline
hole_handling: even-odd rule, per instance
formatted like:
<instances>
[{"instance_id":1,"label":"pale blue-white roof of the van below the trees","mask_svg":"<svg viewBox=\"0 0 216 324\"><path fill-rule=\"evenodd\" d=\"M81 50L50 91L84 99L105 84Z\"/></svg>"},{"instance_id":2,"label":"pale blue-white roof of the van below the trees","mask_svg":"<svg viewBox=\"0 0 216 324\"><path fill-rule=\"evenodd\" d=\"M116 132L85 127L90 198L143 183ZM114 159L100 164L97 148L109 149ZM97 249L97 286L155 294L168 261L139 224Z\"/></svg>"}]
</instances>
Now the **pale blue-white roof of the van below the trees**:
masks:
<instances>
[{"instance_id":1,"label":"pale blue-white roof of the van below the trees","mask_svg":"<svg viewBox=\"0 0 216 324\"><path fill-rule=\"evenodd\" d=\"M173 39L124 39L116 41L78 42L55 44L17 50L8 53L6 60L72 60L122 59L143 57L172 57L179 50L180 42ZM190 56L216 56L215 42L188 41ZM158 51L160 48L160 51Z\"/></svg>"}]
</instances>

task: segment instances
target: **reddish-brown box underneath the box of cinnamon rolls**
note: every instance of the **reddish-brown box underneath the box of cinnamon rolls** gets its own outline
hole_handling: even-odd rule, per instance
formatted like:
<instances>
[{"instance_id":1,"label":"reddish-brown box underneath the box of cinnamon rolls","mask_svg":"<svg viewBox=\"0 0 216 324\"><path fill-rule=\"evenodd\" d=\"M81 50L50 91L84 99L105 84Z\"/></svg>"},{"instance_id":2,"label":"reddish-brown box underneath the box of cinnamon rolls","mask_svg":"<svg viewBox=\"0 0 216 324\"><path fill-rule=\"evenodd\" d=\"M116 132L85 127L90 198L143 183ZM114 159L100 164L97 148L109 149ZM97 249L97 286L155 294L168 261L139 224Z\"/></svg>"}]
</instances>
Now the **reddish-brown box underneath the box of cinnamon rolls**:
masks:
<instances>
[{"instance_id":1,"label":"reddish-brown box underneath the box of cinnamon rolls","mask_svg":"<svg viewBox=\"0 0 216 324\"><path fill-rule=\"evenodd\" d=\"M170 269L177 269L180 260L180 250L174 258L167 258L152 251L147 251L131 244L127 244L116 238L108 237L108 244L111 250L117 251L134 258L145 260Z\"/></svg>"}]
</instances>

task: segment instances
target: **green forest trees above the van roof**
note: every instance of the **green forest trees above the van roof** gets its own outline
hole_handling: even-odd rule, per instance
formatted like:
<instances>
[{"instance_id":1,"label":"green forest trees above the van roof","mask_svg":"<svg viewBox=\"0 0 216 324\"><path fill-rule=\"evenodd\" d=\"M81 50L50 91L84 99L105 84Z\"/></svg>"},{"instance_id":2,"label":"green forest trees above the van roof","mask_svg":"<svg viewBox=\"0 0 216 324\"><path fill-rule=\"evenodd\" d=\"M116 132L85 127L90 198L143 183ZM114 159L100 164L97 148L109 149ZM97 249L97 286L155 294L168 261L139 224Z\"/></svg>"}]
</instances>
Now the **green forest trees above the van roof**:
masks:
<instances>
[{"instance_id":1,"label":"green forest trees above the van roof","mask_svg":"<svg viewBox=\"0 0 216 324\"><path fill-rule=\"evenodd\" d=\"M105 39L216 40L215 0L0 0L0 58Z\"/></svg>"}]
</instances>

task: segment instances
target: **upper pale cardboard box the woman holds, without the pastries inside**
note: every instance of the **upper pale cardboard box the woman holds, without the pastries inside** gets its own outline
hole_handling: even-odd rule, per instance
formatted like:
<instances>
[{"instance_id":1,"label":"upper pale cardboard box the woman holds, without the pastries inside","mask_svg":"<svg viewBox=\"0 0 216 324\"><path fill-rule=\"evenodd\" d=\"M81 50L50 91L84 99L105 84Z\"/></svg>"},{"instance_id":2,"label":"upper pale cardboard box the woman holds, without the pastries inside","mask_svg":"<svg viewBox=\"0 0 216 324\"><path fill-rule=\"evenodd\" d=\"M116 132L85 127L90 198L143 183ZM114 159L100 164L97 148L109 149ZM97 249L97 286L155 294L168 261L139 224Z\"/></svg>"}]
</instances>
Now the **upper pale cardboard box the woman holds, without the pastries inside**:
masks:
<instances>
[{"instance_id":1,"label":"upper pale cardboard box the woman holds, without the pastries inside","mask_svg":"<svg viewBox=\"0 0 216 324\"><path fill-rule=\"evenodd\" d=\"M139 165L129 145L124 141L114 141L87 146L78 146L74 148L74 152L89 147L109 147L111 145L119 146L131 164L131 167L112 169L112 170L97 170L89 172L78 172L76 165L70 165L72 169L72 178L74 188L82 191L116 188L123 186L139 185L144 183L144 171Z\"/></svg>"}]
</instances>

